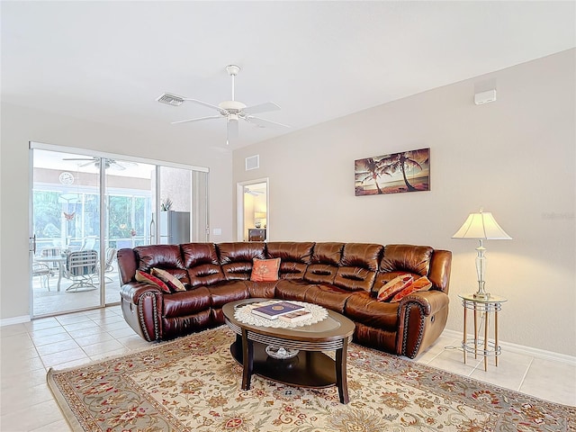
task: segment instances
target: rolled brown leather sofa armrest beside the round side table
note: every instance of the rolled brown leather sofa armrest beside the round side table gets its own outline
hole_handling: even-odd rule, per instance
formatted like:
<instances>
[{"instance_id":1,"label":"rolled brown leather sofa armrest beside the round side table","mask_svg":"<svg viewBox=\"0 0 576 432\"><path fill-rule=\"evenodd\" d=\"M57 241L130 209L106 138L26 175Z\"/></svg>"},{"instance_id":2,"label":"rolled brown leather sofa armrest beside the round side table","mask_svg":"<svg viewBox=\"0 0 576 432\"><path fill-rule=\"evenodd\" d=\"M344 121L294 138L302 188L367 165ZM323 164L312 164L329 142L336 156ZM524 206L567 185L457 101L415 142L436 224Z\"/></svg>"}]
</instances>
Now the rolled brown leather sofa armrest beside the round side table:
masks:
<instances>
[{"instance_id":1,"label":"rolled brown leather sofa armrest beside the round side table","mask_svg":"<svg viewBox=\"0 0 576 432\"><path fill-rule=\"evenodd\" d=\"M437 290L411 293L399 306L396 353L414 358L420 347L428 347L446 326L448 294Z\"/></svg>"}]
</instances>

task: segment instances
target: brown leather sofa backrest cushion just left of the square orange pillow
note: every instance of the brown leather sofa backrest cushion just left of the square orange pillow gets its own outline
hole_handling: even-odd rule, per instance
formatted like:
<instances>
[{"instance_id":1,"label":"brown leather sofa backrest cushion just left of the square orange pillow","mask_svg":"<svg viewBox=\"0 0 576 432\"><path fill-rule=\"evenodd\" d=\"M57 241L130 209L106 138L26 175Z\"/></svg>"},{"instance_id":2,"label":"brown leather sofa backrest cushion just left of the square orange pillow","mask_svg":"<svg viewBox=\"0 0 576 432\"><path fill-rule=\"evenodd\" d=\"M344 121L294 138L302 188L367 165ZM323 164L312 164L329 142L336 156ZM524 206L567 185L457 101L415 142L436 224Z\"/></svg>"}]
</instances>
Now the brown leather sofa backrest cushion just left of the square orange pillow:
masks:
<instances>
[{"instance_id":1,"label":"brown leather sofa backrest cushion just left of the square orange pillow","mask_svg":"<svg viewBox=\"0 0 576 432\"><path fill-rule=\"evenodd\" d=\"M254 258L266 258L263 242L219 243L216 250L224 277L229 281L249 280Z\"/></svg>"}]
</instances>

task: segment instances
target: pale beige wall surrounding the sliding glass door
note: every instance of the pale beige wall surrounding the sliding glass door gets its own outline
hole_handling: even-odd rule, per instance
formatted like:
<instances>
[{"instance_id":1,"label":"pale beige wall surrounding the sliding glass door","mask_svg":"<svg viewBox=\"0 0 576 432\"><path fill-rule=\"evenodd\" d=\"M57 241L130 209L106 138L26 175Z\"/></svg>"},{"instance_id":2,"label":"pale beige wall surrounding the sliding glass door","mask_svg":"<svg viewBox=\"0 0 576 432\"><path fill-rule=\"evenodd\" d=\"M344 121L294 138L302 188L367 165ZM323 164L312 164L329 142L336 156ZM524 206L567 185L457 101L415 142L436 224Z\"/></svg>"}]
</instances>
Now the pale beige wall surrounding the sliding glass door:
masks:
<instances>
[{"instance_id":1,"label":"pale beige wall surrounding the sliding glass door","mask_svg":"<svg viewBox=\"0 0 576 432\"><path fill-rule=\"evenodd\" d=\"M0 148L0 319L30 314L28 262L28 142L89 148L114 154L147 157L210 168L213 241L232 239L231 153L195 146L190 130L158 130L157 135L116 129L91 121L2 104ZM168 125L169 126L169 125ZM170 151L166 151L169 145Z\"/></svg>"}]
</instances>

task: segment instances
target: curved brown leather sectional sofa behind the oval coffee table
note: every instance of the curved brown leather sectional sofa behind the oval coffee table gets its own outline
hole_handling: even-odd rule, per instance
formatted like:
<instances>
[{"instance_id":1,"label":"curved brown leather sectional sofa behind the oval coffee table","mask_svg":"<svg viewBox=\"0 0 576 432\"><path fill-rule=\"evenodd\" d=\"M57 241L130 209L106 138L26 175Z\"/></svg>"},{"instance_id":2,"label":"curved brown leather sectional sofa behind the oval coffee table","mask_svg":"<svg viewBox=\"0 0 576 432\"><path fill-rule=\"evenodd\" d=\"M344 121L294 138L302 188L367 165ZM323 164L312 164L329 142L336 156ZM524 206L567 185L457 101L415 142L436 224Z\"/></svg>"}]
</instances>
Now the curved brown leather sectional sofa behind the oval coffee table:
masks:
<instances>
[{"instance_id":1,"label":"curved brown leather sectional sofa behind the oval coffee table","mask_svg":"<svg viewBox=\"0 0 576 432\"><path fill-rule=\"evenodd\" d=\"M279 279L252 282L254 258L281 258ZM222 306L246 298L313 302L355 321L355 340L414 358L442 333L448 315L452 254L426 246L364 243L236 242L121 249L121 308L148 341L175 338L223 324ZM163 293L136 282L153 267L175 275L185 292ZM398 275L427 275L429 291L401 302L376 293Z\"/></svg>"}]
</instances>

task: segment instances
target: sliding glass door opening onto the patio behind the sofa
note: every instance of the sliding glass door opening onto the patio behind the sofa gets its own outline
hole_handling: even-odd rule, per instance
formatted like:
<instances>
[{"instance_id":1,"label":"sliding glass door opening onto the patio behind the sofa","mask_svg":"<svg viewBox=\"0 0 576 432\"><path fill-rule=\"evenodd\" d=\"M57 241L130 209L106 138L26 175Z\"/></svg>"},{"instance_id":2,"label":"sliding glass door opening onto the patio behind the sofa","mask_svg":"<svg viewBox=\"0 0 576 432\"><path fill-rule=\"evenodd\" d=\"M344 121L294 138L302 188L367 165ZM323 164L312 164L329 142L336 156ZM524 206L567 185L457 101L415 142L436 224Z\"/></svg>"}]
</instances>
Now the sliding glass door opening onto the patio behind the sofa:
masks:
<instances>
[{"instance_id":1,"label":"sliding glass door opening onto the patio behind the sofa","mask_svg":"<svg viewBox=\"0 0 576 432\"><path fill-rule=\"evenodd\" d=\"M31 315L120 302L116 252L207 241L208 170L31 143Z\"/></svg>"}]
</instances>

